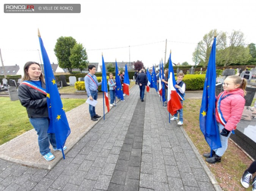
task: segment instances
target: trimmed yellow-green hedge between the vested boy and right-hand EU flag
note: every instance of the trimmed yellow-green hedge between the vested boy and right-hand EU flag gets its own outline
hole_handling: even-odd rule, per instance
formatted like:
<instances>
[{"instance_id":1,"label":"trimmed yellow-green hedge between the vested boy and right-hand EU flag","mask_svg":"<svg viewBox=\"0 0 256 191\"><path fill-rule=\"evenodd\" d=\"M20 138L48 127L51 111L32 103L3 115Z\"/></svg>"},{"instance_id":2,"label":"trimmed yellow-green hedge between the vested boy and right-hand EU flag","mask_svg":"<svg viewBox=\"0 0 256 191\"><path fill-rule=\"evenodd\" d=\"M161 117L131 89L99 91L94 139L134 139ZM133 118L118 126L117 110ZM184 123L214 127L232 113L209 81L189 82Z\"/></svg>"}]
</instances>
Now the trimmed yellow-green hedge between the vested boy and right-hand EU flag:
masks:
<instances>
[{"instance_id":1,"label":"trimmed yellow-green hedge between the vested boy and right-hand EU flag","mask_svg":"<svg viewBox=\"0 0 256 191\"><path fill-rule=\"evenodd\" d=\"M186 90L199 90L204 89L204 74L187 74L183 78L186 84Z\"/></svg>"}]
</instances>

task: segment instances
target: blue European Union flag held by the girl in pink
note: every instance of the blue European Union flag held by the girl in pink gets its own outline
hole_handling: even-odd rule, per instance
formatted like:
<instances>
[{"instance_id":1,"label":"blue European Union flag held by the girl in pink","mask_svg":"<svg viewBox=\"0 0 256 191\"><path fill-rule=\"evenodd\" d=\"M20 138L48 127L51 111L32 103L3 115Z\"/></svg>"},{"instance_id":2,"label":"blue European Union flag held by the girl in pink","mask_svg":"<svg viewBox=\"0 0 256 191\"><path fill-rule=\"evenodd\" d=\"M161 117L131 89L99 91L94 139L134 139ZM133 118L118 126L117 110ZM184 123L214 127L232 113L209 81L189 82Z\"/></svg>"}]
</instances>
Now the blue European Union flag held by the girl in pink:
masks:
<instances>
[{"instance_id":1,"label":"blue European Union flag held by the girl in pink","mask_svg":"<svg viewBox=\"0 0 256 191\"><path fill-rule=\"evenodd\" d=\"M200 109L200 129L211 150L221 147L220 133L215 118L215 84L216 84L216 37L212 44L209 62L204 81L203 97Z\"/></svg>"}]
</instances>

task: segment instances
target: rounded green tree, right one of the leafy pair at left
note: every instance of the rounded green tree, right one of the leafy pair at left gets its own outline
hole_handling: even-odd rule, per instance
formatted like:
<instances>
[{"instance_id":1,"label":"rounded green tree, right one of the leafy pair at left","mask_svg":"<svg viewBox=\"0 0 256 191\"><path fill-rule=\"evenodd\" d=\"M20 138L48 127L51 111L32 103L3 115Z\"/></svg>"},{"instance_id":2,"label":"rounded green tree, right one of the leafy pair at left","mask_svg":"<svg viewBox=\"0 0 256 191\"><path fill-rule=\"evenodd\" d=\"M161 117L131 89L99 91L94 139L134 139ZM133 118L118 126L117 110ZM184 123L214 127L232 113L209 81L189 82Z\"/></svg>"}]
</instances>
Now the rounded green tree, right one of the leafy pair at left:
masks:
<instances>
[{"instance_id":1,"label":"rounded green tree, right one of the leafy pair at left","mask_svg":"<svg viewBox=\"0 0 256 191\"><path fill-rule=\"evenodd\" d=\"M71 68L78 68L82 74L83 69L88 67L88 56L86 49L83 48L82 44L75 44L70 49L69 61L71 62Z\"/></svg>"}]
</instances>

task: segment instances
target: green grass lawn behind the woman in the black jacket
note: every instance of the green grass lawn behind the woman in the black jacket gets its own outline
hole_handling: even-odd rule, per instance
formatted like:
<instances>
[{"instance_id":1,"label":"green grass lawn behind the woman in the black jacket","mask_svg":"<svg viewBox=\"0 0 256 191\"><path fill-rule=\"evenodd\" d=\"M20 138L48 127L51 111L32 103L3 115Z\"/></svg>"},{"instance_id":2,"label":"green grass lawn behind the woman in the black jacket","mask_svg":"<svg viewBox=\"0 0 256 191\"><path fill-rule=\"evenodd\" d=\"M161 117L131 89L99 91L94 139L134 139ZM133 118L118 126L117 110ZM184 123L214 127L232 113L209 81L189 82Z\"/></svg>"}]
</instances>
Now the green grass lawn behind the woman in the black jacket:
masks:
<instances>
[{"instance_id":1,"label":"green grass lawn behind the woman in the black jacket","mask_svg":"<svg viewBox=\"0 0 256 191\"><path fill-rule=\"evenodd\" d=\"M85 99L62 99L65 111L85 103ZM10 101L9 97L0 97L0 145L33 128L28 120L26 108L20 101Z\"/></svg>"}]
</instances>

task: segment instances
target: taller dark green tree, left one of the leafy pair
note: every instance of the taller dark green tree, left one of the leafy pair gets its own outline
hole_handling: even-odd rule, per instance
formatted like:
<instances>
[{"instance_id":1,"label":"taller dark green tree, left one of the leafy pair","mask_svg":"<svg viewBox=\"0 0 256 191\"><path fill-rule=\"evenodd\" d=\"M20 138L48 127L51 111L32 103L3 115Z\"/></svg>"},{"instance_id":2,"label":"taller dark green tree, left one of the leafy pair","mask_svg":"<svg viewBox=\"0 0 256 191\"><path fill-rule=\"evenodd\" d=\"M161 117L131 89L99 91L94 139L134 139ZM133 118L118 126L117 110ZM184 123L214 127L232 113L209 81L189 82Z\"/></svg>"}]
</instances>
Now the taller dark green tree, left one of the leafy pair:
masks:
<instances>
[{"instance_id":1,"label":"taller dark green tree, left one of the leafy pair","mask_svg":"<svg viewBox=\"0 0 256 191\"><path fill-rule=\"evenodd\" d=\"M60 37L55 44L54 52L57 57L60 68L68 68L68 71L72 72L72 65L69 60L71 55L71 48L76 44L76 40L73 37Z\"/></svg>"}]
</instances>

